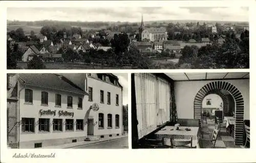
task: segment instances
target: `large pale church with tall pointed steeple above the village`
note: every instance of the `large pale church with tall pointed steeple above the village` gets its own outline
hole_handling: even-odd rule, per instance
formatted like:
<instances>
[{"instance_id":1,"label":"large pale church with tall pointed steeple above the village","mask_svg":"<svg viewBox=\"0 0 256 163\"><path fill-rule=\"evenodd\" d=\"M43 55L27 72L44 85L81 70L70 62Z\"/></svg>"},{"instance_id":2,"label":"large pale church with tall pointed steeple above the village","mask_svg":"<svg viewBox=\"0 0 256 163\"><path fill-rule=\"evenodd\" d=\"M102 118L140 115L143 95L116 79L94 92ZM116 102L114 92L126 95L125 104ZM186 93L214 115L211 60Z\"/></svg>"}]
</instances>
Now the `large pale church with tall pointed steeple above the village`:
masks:
<instances>
[{"instance_id":1,"label":"large pale church with tall pointed steeple above the village","mask_svg":"<svg viewBox=\"0 0 256 163\"><path fill-rule=\"evenodd\" d=\"M167 31L165 28L144 28L143 15L141 18L141 25L139 28L140 41L160 41L167 40Z\"/></svg>"}]
</instances>

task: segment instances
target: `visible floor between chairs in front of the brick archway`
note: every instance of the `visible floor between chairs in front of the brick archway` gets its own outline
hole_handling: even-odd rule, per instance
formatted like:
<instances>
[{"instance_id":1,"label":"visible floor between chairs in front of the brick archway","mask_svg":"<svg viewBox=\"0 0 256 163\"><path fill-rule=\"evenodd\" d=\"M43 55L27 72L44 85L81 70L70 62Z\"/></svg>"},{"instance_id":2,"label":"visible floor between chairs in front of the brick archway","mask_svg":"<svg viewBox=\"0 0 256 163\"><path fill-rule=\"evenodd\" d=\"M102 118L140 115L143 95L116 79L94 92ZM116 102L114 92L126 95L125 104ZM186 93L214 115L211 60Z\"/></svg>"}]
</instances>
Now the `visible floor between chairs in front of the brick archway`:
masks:
<instances>
[{"instance_id":1,"label":"visible floor between chairs in front of the brick archway","mask_svg":"<svg viewBox=\"0 0 256 163\"><path fill-rule=\"evenodd\" d=\"M212 132L215 127L214 119L207 119L207 124L203 122L202 130L209 132L203 134L203 139L209 140L211 138ZM211 148L211 144L208 141L200 140L199 142L201 148ZM240 145L234 145L234 139L226 133L225 130L221 130L221 133L218 135L215 148L244 148Z\"/></svg>"}]
</instances>

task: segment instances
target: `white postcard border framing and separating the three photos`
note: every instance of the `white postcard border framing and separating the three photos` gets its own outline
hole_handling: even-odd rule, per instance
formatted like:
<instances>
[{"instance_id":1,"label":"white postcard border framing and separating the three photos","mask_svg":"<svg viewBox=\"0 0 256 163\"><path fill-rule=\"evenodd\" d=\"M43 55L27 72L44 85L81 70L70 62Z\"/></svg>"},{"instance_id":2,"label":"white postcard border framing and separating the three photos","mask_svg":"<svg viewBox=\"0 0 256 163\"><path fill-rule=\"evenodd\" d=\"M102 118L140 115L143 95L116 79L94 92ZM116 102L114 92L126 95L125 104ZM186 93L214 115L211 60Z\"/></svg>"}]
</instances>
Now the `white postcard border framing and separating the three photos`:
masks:
<instances>
[{"instance_id":1,"label":"white postcard border framing and separating the three photos","mask_svg":"<svg viewBox=\"0 0 256 163\"><path fill-rule=\"evenodd\" d=\"M255 60L256 50L255 36L255 1L8 1L0 2L0 66L1 79L1 162L27 162L29 160L37 162L256 162L255 140L252 139L250 149L131 149L131 88L129 87L129 149L7 149L6 145L6 73L88 73L88 72L250 72L250 121L255 126ZM156 7L156 6L183 6L183 7L232 7L249 6L250 21L250 70L249 69L184 69L184 70L6 70L6 8L7 7ZM131 76L129 75L129 83ZM130 84L129 84L130 86ZM255 138L256 131L251 130ZM35 152L48 154L55 152L56 158L48 159L12 159L12 155L17 152Z\"/></svg>"}]
</instances>

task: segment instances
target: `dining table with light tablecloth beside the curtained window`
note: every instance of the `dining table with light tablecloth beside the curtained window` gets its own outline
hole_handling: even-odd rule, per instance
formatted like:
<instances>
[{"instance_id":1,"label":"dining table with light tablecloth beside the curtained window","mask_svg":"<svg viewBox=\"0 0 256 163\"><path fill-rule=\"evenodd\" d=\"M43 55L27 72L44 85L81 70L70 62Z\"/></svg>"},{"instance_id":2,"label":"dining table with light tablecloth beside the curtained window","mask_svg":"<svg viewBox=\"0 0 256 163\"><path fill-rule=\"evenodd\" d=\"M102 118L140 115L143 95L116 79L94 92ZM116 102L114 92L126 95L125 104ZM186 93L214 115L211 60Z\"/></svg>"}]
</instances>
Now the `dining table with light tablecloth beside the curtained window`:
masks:
<instances>
[{"instance_id":1,"label":"dining table with light tablecloth beside the curtained window","mask_svg":"<svg viewBox=\"0 0 256 163\"><path fill-rule=\"evenodd\" d=\"M186 131L185 128L191 129L190 131ZM173 130L171 130L173 129ZM174 126L165 126L163 129L157 131L155 133L156 139L162 139L164 138L164 143L166 145L170 145L170 138L172 140L175 139L187 139L190 140L192 137L192 145L197 146L197 148L200 148L199 146L199 138L200 138L200 132L199 127L187 127L187 126L180 126L179 130L176 130Z\"/></svg>"}]
</instances>

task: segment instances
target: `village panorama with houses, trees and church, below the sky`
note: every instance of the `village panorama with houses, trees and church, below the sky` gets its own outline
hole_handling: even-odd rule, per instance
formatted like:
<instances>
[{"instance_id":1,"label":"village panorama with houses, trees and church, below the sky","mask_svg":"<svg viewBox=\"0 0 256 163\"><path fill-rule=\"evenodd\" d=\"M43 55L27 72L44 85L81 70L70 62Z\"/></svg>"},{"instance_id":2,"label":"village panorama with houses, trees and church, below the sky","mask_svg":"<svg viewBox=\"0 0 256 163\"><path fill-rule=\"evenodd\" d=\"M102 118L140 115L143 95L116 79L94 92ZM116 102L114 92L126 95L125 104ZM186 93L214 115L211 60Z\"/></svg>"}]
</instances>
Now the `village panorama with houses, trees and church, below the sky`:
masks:
<instances>
[{"instance_id":1,"label":"village panorama with houses, trees and church, below the sky","mask_svg":"<svg viewBox=\"0 0 256 163\"><path fill-rule=\"evenodd\" d=\"M7 20L7 68L249 68L249 23Z\"/></svg>"}]
</instances>

